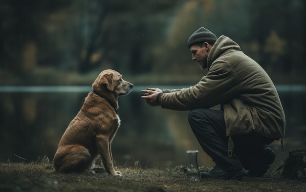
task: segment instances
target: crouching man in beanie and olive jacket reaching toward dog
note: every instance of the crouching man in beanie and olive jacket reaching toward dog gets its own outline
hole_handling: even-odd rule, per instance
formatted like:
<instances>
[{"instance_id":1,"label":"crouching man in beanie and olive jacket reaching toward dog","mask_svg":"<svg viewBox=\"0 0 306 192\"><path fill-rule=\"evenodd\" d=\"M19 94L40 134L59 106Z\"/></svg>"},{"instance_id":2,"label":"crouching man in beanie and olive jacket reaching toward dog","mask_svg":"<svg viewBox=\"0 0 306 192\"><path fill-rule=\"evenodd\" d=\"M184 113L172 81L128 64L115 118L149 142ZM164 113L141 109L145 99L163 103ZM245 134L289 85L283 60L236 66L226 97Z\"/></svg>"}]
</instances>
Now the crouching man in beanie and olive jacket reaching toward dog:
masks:
<instances>
[{"instance_id":1,"label":"crouching man in beanie and olive jacket reaching toward dog","mask_svg":"<svg viewBox=\"0 0 306 192\"><path fill-rule=\"evenodd\" d=\"M151 106L190 110L190 127L216 163L202 177L262 176L275 159L267 145L283 139L285 130L284 109L273 82L226 36L217 39L201 27L190 36L188 46L192 60L208 73L189 88L147 88L142 99ZM220 110L210 109L216 105Z\"/></svg>"}]
</instances>

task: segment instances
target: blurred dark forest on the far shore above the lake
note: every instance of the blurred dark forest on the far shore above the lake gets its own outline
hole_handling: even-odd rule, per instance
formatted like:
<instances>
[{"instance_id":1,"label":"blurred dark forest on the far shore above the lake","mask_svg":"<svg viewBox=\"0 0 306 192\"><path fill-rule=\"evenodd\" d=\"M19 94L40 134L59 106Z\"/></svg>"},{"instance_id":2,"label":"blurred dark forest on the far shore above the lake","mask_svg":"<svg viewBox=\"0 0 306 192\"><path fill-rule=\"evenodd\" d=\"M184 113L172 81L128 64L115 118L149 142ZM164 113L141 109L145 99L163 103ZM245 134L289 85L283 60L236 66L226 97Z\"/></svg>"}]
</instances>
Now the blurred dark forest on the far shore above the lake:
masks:
<instances>
[{"instance_id":1,"label":"blurred dark forest on the far shore above the lake","mask_svg":"<svg viewBox=\"0 0 306 192\"><path fill-rule=\"evenodd\" d=\"M201 26L276 84L301 84L305 18L304 0L1 0L0 85L88 85L106 68L136 85L194 84L187 40Z\"/></svg>"}]
</instances>

